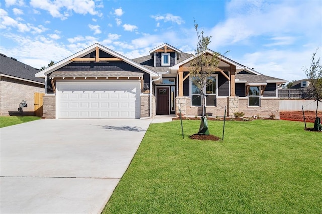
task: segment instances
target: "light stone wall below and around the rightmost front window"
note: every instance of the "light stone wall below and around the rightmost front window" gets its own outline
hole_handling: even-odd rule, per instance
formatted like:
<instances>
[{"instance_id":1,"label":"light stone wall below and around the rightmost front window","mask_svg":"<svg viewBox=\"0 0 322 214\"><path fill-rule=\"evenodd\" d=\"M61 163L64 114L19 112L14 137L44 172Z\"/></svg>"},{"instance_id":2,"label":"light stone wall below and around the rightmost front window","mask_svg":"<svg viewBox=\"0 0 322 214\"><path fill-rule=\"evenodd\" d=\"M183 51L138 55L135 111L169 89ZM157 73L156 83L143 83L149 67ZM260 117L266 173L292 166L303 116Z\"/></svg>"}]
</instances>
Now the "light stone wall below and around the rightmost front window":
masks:
<instances>
[{"instance_id":1,"label":"light stone wall below and around the rightmost front window","mask_svg":"<svg viewBox=\"0 0 322 214\"><path fill-rule=\"evenodd\" d=\"M268 118L274 114L275 118L279 119L279 109L278 98L261 98L260 107L248 107L248 98L239 98L239 112L244 112L245 117L259 116Z\"/></svg>"}]
</instances>

